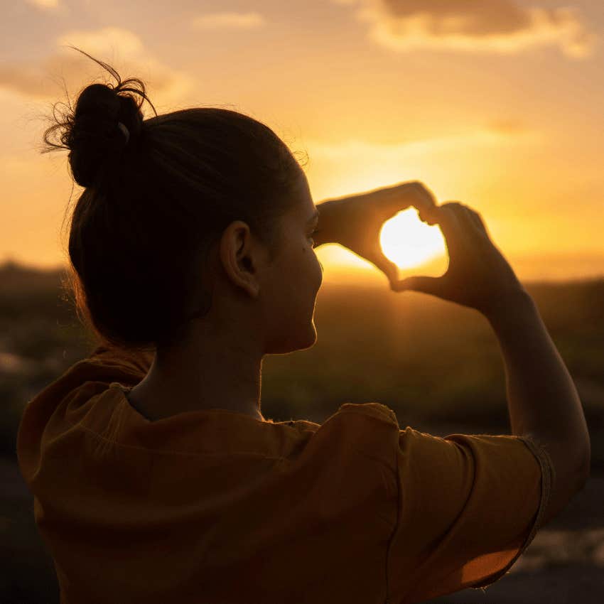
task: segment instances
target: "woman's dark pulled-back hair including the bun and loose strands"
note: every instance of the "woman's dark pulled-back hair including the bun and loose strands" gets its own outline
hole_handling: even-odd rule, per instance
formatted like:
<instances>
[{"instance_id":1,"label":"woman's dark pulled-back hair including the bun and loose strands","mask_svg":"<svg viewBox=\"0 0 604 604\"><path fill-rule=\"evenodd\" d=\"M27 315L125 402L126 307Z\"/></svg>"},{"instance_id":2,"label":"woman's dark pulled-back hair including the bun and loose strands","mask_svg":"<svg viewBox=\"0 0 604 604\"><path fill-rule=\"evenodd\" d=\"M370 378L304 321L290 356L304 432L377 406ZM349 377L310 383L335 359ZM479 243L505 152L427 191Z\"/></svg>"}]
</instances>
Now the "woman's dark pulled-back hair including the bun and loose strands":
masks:
<instances>
[{"instance_id":1,"label":"woman's dark pulled-back hair including the bun and loose strands","mask_svg":"<svg viewBox=\"0 0 604 604\"><path fill-rule=\"evenodd\" d=\"M69 103L60 115L55 104L44 133L43 152L69 149L72 176L85 187L71 215L69 288L97 337L149 350L178 340L209 311L200 269L233 220L246 222L274 259L279 217L298 203L301 166L252 117L217 107L158 115L144 82L122 81L80 52L117 85L85 87L75 110ZM144 119L145 100L155 117Z\"/></svg>"}]
</instances>

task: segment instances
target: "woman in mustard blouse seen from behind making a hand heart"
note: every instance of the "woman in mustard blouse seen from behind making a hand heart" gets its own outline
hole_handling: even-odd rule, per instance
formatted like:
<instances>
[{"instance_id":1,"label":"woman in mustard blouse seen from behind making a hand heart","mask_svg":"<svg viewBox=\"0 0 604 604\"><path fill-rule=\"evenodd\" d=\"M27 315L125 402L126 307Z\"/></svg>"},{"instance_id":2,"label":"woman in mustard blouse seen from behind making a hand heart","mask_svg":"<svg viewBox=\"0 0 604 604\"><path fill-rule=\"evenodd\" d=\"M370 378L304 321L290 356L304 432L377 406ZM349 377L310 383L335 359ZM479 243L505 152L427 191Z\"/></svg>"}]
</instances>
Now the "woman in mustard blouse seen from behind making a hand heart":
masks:
<instances>
[{"instance_id":1,"label":"woman in mustard blouse seen from behind making a hand heart","mask_svg":"<svg viewBox=\"0 0 604 604\"><path fill-rule=\"evenodd\" d=\"M316 206L264 124L215 108L143 119L143 83L99 64L117 85L86 87L45 135L85 188L69 256L99 345L29 402L17 441L61 601L398 604L497 581L585 482L589 437L479 215L415 182ZM411 206L446 237L438 279L399 282L379 251L384 220ZM326 242L393 291L490 320L513 435L401 430L377 402L264 419L264 355L316 340Z\"/></svg>"}]
</instances>

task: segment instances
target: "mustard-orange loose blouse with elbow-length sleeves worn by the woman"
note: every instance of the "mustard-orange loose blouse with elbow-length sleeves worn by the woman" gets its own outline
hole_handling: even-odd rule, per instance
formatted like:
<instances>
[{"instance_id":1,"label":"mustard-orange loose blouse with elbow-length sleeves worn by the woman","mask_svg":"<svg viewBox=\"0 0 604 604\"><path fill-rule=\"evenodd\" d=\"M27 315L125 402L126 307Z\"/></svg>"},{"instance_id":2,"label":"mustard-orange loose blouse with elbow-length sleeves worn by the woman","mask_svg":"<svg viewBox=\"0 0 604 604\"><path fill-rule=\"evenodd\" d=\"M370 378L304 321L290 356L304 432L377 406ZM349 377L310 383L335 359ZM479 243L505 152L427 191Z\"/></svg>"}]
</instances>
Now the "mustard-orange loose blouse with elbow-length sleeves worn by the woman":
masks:
<instances>
[{"instance_id":1,"label":"mustard-orange loose blouse with elbow-length sleeves worn by the woman","mask_svg":"<svg viewBox=\"0 0 604 604\"><path fill-rule=\"evenodd\" d=\"M97 347L23 413L62 604L421 602L494 583L541 526L555 475L529 438L401 430L377 402L151 422L124 394L151 361Z\"/></svg>"}]
</instances>

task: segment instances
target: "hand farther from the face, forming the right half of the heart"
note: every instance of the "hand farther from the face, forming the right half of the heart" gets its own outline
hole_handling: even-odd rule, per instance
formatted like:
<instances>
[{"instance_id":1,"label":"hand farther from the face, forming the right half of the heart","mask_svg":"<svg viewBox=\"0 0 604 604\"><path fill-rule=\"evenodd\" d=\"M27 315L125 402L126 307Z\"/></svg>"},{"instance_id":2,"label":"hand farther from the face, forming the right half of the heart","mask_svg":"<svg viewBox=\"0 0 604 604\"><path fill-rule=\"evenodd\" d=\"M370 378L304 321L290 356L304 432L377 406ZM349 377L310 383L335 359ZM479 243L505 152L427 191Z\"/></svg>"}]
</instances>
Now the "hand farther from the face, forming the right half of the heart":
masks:
<instances>
[{"instance_id":1,"label":"hand farther from the face, forming the right half of the heart","mask_svg":"<svg viewBox=\"0 0 604 604\"><path fill-rule=\"evenodd\" d=\"M392 284L394 291L421 291L485 316L519 293L526 293L516 274L492 243L482 218L458 202L420 210L428 225L438 224L446 239L449 266L440 277L411 276Z\"/></svg>"}]
</instances>

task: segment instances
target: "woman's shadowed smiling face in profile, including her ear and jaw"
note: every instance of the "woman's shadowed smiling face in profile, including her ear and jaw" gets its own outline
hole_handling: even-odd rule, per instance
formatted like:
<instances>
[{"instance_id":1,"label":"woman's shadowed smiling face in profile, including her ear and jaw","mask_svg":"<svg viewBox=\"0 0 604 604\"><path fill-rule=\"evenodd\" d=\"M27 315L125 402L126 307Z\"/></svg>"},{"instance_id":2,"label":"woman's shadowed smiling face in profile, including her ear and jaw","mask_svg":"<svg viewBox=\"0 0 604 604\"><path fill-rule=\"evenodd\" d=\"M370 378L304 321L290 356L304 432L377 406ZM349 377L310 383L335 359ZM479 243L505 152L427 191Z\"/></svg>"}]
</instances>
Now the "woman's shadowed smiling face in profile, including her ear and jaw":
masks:
<instances>
[{"instance_id":1,"label":"woman's shadowed smiling face in profile, including her ear and jaw","mask_svg":"<svg viewBox=\"0 0 604 604\"><path fill-rule=\"evenodd\" d=\"M238 333L240 345L261 356L304 350L316 342L313 315L323 266L313 249L318 210L302 170L292 195L295 203L276 223L272 261L245 222L236 220L222 233L210 285L212 308L203 320L203 331L213 341Z\"/></svg>"}]
</instances>

